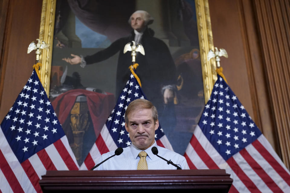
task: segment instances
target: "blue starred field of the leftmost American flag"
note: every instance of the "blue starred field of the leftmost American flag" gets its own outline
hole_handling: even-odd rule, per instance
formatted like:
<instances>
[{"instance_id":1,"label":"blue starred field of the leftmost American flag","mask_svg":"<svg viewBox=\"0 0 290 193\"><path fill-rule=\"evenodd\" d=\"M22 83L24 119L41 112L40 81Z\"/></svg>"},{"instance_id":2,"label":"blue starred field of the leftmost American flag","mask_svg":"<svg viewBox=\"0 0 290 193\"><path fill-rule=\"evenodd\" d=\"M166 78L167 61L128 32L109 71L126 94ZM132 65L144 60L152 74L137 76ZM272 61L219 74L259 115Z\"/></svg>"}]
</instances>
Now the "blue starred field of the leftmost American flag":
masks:
<instances>
[{"instance_id":1,"label":"blue starred field of the leftmost American flag","mask_svg":"<svg viewBox=\"0 0 290 193\"><path fill-rule=\"evenodd\" d=\"M1 128L20 163L65 135L35 70Z\"/></svg>"}]
</instances>

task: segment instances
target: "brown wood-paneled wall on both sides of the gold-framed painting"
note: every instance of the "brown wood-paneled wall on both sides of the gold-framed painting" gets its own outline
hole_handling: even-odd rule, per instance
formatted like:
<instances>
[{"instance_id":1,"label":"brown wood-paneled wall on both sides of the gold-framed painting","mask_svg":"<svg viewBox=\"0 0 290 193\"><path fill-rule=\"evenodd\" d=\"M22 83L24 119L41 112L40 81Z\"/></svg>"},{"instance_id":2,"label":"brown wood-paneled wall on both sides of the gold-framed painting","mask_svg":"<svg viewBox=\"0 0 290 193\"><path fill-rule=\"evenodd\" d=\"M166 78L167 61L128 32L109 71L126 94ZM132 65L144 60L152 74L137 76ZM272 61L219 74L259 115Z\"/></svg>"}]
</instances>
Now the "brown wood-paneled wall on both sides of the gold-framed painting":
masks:
<instances>
[{"instance_id":1,"label":"brown wood-paneled wall on both sides of the gold-framed painting","mask_svg":"<svg viewBox=\"0 0 290 193\"><path fill-rule=\"evenodd\" d=\"M39 36L42 1L0 2L0 120L31 75L27 46ZM290 163L290 8L287 0L209 0L224 75L253 120Z\"/></svg>"}]
</instances>

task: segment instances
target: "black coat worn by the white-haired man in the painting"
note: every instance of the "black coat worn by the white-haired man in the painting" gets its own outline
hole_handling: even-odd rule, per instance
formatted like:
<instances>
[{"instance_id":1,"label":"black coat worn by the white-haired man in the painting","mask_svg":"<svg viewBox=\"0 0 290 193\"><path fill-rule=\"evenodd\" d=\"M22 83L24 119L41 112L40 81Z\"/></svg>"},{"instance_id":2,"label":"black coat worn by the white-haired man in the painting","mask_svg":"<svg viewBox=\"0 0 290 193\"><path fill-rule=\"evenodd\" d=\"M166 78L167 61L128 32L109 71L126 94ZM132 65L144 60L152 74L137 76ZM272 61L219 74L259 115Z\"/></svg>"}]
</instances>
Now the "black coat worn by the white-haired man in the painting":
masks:
<instances>
[{"instance_id":1,"label":"black coat worn by the white-haired man in the painting","mask_svg":"<svg viewBox=\"0 0 290 193\"><path fill-rule=\"evenodd\" d=\"M157 109L163 109L162 87L169 84L176 84L176 68L172 56L166 44L155 37L154 31L146 29L143 32L140 43L143 45L145 55L137 52L136 63L137 75L140 78L142 89L147 99L150 100ZM86 56L87 64L93 64L108 59L119 52L117 77L116 77L116 97L118 97L126 85L130 76L129 66L132 64L131 52L123 53L124 46L134 40L134 31L127 36L113 42L108 48L93 55ZM159 111L158 110L158 111Z\"/></svg>"}]
</instances>

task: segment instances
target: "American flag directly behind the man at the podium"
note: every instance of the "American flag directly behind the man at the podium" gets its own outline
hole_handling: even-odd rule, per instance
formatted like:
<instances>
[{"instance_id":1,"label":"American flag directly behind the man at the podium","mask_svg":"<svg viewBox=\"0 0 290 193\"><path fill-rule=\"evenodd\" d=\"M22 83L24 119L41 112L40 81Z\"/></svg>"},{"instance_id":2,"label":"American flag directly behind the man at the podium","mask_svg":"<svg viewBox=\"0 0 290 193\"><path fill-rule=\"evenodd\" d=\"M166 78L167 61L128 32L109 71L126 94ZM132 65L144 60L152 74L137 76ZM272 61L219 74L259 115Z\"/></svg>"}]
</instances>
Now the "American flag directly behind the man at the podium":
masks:
<instances>
[{"instance_id":1,"label":"American flag directly behind the man at the podium","mask_svg":"<svg viewBox=\"0 0 290 193\"><path fill-rule=\"evenodd\" d=\"M81 170L88 170L94 167L102 154L116 150L118 147L127 147L131 145L129 133L125 129L124 116L129 103L139 98L147 99L137 79L131 74L118 98L115 108L112 110L95 144L85 158L84 163L80 166ZM155 140L159 146L173 150L160 123L158 129L155 131Z\"/></svg>"}]
</instances>

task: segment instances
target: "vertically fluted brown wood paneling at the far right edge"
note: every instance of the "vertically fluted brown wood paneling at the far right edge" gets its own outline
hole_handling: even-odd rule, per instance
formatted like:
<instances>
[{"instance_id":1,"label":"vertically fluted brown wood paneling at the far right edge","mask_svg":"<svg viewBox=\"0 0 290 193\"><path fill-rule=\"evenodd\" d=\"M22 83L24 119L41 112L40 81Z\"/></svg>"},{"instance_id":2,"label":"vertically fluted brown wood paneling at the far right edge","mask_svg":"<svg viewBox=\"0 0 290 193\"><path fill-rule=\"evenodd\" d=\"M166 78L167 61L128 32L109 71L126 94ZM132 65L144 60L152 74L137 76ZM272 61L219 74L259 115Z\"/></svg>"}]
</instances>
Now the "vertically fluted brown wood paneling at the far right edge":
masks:
<instances>
[{"instance_id":1,"label":"vertically fluted brown wood paneling at the far right edge","mask_svg":"<svg viewBox=\"0 0 290 193\"><path fill-rule=\"evenodd\" d=\"M254 1L282 160L290 167L290 1Z\"/></svg>"}]
</instances>

